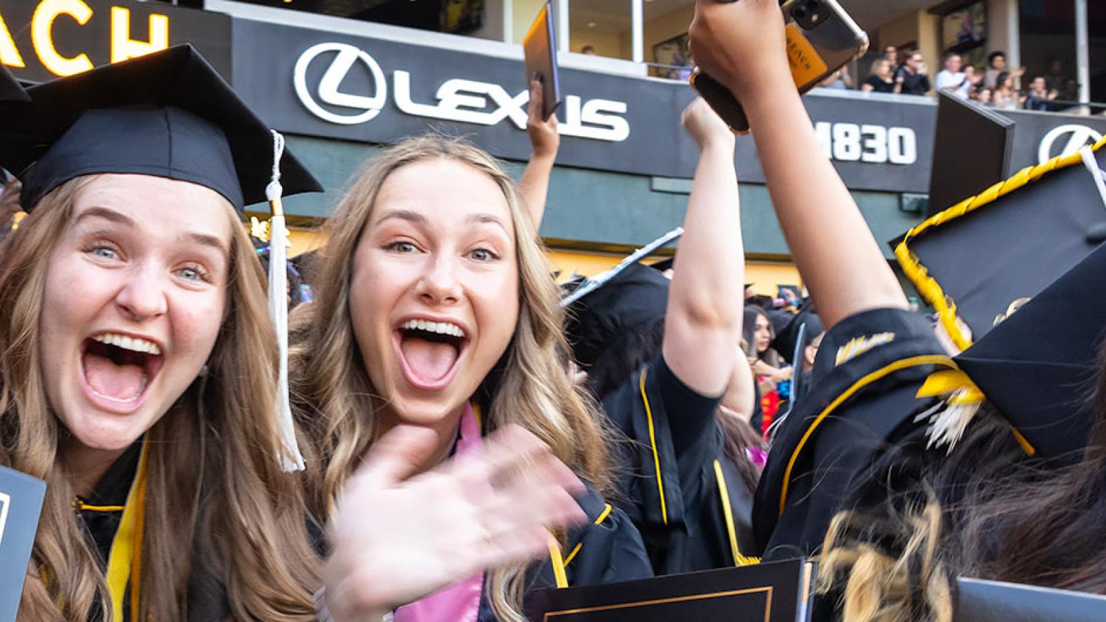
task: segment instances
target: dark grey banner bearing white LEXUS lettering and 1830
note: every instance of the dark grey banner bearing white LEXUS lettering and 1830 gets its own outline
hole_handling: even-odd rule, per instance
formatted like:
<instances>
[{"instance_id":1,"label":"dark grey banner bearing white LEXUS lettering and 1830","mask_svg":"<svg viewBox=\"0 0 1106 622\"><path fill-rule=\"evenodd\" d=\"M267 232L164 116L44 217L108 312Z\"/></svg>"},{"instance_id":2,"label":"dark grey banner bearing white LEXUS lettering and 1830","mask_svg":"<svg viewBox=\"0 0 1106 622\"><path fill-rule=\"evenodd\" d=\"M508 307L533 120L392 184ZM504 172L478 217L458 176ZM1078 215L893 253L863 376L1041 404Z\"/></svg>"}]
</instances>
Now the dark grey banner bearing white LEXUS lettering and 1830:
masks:
<instances>
[{"instance_id":1,"label":"dark grey banner bearing white LEXUS lettering and 1830","mask_svg":"<svg viewBox=\"0 0 1106 622\"><path fill-rule=\"evenodd\" d=\"M526 76L520 60L236 19L234 87L280 131L393 143L437 128L525 159ZM698 156L679 126L687 84L563 69L559 164L691 177ZM935 107L813 94L826 155L854 189L925 193ZM751 138L741 179L763 183Z\"/></svg>"}]
</instances>

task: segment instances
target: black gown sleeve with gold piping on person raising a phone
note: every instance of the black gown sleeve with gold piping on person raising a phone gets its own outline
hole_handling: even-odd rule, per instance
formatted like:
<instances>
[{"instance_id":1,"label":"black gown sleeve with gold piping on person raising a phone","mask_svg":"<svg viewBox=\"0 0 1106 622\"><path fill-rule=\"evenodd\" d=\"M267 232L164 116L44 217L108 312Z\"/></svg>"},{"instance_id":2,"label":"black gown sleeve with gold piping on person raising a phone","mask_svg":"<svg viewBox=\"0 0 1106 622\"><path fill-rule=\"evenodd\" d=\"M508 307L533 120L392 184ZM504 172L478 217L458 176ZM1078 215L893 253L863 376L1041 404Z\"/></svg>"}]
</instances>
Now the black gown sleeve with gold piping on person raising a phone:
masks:
<instances>
[{"instance_id":1,"label":"black gown sleeve with gold piping on person raising a phone","mask_svg":"<svg viewBox=\"0 0 1106 622\"><path fill-rule=\"evenodd\" d=\"M808 556L833 517L906 490L927 460L926 423L936 404L917 392L933 372L956 369L922 315L876 309L823 338L811 391L769 453L755 494L753 528L765 561Z\"/></svg>"}]
</instances>

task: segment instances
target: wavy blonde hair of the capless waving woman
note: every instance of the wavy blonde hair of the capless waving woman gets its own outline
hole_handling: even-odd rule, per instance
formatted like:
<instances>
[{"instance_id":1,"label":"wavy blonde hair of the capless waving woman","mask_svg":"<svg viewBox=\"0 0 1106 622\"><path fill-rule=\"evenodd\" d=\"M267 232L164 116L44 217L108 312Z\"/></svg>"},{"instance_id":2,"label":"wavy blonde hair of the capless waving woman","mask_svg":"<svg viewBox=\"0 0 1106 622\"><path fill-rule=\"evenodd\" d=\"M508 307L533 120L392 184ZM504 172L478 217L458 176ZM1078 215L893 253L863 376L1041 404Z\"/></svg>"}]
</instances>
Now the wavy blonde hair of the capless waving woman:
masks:
<instances>
[{"instance_id":1,"label":"wavy blonde hair of the capless waving woman","mask_svg":"<svg viewBox=\"0 0 1106 622\"><path fill-rule=\"evenodd\" d=\"M419 162L447 159L483 173L499 186L510 208L519 262L520 309L514 336L481 386L489 398L487 431L518 424L544 440L563 463L603 488L607 455L594 405L567 374L568 346L556 283L544 248L530 226L514 182L479 148L459 139L408 139L368 163L327 221L327 245L316 276L315 300L293 320L291 367L300 415L314 424L326 464L313 502L330 512L361 457L376 438L376 402L349 317L351 261L385 179ZM521 568L500 569L489 579L489 599L501 620L522 621Z\"/></svg>"}]
</instances>

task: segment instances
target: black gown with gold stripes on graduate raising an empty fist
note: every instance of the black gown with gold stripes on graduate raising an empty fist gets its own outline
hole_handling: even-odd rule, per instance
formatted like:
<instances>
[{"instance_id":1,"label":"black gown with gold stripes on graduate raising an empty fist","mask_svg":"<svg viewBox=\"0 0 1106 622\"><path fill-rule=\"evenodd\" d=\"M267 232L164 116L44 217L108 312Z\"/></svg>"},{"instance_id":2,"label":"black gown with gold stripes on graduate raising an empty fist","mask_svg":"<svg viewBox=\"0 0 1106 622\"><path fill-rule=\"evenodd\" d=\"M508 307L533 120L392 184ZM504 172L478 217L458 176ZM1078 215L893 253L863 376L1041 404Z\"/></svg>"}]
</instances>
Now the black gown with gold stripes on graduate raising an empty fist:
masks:
<instances>
[{"instance_id":1,"label":"black gown with gold stripes on graduate raising an empty fist","mask_svg":"<svg viewBox=\"0 0 1106 622\"><path fill-rule=\"evenodd\" d=\"M754 549L752 491L723 454L719 400L692 391L658 354L603 401L626 437L616 448L618 489L625 493L617 501L641 531L658 576L735 563L722 483L738 549L743 556Z\"/></svg>"}]
</instances>

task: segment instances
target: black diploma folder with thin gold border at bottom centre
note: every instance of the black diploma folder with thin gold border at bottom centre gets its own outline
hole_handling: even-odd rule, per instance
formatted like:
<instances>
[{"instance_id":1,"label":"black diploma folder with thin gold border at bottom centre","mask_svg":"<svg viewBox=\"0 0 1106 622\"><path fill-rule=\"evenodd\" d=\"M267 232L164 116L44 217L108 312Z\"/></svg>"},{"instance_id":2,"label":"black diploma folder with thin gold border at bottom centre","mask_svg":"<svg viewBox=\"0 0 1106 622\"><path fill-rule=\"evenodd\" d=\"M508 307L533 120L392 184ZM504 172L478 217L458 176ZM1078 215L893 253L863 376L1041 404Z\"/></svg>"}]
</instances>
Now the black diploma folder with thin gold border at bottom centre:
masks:
<instances>
[{"instance_id":1,"label":"black diploma folder with thin gold border at bottom centre","mask_svg":"<svg viewBox=\"0 0 1106 622\"><path fill-rule=\"evenodd\" d=\"M803 559L656 579L540 590L532 622L794 622L810 619L814 564Z\"/></svg>"}]
</instances>

